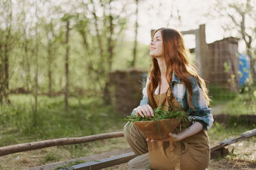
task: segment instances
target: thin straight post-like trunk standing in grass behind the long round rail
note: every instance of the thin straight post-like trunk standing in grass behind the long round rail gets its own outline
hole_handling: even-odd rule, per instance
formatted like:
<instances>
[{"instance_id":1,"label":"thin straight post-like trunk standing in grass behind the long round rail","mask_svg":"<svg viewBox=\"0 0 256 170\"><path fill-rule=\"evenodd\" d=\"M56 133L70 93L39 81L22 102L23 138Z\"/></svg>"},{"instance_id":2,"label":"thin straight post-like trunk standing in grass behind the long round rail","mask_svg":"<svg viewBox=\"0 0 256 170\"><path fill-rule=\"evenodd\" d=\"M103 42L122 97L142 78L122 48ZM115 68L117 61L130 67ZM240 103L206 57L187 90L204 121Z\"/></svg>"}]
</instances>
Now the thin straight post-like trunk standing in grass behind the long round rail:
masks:
<instances>
[{"instance_id":1,"label":"thin straight post-like trunk standing in grass behind the long round rail","mask_svg":"<svg viewBox=\"0 0 256 170\"><path fill-rule=\"evenodd\" d=\"M69 55L69 45L68 45L68 37L69 37L69 20L67 20L67 32L66 32L66 59L65 59L65 73L66 73L66 87L65 87L65 111L68 111L68 55Z\"/></svg>"}]
</instances>

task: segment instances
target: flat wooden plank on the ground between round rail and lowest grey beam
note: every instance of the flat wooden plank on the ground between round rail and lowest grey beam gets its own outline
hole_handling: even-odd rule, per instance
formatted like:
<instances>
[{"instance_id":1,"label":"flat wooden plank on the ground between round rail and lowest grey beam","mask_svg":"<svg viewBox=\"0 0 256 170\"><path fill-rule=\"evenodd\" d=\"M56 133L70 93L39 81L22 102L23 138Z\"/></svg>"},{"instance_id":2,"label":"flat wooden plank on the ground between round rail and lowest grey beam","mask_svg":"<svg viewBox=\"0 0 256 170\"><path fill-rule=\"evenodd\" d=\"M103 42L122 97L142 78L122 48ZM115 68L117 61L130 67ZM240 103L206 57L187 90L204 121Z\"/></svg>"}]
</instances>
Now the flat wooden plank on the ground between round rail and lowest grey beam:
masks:
<instances>
[{"instance_id":1,"label":"flat wooden plank on the ground between round rail and lowest grey beam","mask_svg":"<svg viewBox=\"0 0 256 170\"><path fill-rule=\"evenodd\" d=\"M65 160L65 161L62 161L62 162L55 162L55 163L52 163L52 164L46 164L46 165L43 165L43 166L31 167L29 170L51 170L51 169L55 169L56 167L67 166L68 162L77 162L77 161L81 161L81 160L84 161L84 162L92 162L92 161L95 161L95 160L105 159L105 158L108 158L108 157L113 157L113 156L116 156L116 155L122 155L124 153L131 153L131 152L132 152L131 148L113 150L111 152L99 153L99 154L90 155L90 156L87 156L87 157L80 157L80 158L76 158L76 159ZM127 162L128 161L129 160L127 160Z\"/></svg>"}]
</instances>

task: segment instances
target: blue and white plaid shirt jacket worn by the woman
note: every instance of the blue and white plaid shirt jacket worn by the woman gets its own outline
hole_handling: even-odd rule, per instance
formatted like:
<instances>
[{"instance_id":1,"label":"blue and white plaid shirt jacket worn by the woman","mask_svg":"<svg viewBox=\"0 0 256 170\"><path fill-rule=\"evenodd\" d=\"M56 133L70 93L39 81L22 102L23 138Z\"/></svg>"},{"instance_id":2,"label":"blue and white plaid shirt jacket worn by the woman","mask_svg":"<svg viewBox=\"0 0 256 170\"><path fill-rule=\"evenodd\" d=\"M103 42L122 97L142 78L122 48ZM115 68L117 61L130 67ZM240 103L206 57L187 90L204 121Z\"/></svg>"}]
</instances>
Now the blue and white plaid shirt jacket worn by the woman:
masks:
<instances>
[{"instance_id":1,"label":"blue and white plaid shirt jacket worn by the woman","mask_svg":"<svg viewBox=\"0 0 256 170\"><path fill-rule=\"evenodd\" d=\"M182 110L189 113L189 121L191 122L200 122L203 125L204 130L209 130L213 123L213 117L211 114L211 108L208 108L207 101L204 97L204 93L199 85L199 82L195 76L190 76L189 80L192 85L192 104L193 110L188 103L189 101L189 93L186 89L185 85L180 82L180 78L173 73L172 74L172 92L175 98L177 99L178 103ZM140 101L140 106L148 104L148 95L147 95L147 86L149 83L149 78L147 78L147 83L143 88L143 98ZM159 94L159 86L157 87L155 94ZM132 111L131 115L135 113L135 109Z\"/></svg>"}]
</instances>

